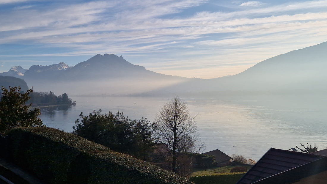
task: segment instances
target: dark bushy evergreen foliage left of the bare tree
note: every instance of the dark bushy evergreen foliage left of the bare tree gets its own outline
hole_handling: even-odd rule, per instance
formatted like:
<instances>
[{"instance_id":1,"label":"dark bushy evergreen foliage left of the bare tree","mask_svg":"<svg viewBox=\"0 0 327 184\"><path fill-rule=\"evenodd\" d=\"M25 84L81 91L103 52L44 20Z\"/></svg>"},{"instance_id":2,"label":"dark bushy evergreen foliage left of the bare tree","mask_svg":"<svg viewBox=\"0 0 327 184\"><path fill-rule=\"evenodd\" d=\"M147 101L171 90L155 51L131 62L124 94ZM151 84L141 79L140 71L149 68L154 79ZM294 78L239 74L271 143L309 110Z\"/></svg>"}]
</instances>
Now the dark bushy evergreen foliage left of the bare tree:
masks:
<instances>
[{"instance_id":1,"label":"dark bushy evergreen foliage left of the bare tree","mask_svg":"<svg viewBox=\"0 0 327 184\"><path fill-rule=\"evenodd\" d=\"M130 120L119 111L113 115L112 112L102 114L101 110L94 110L88 116L81 112L79 117L81 121L75 121L73 133L87 140L142 159L147 159L154 149L152 134L156 127L146 118Z\"/></svg>"}]
</instances>

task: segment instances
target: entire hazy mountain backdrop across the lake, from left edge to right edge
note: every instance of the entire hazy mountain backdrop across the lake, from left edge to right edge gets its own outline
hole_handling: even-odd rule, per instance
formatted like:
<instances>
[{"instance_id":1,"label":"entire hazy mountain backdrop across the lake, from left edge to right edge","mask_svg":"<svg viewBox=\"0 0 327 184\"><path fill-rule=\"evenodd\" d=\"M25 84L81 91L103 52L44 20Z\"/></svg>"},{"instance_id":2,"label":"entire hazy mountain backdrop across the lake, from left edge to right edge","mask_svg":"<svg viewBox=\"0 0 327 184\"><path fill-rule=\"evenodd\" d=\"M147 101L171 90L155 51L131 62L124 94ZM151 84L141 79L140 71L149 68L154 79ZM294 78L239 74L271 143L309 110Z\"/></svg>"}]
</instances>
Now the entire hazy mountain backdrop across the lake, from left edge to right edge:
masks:
<instances>
[{"instance_id":1,"label":"entire hazy mountain backdrop across the lake, from left edge to right edge","mask_svg":"<svg viewBox=\"0 0 327 184\"><path fill-rule=\"evenodd\" d=\"M35 91L70 94L176 94L201 92L327 91L327 42L264 60L237 75L214 79L163 75L129 63L122 56L100 54L69 67L61 62L12 67L4 76L24 79Z\"/></svg>"}]
</instances>

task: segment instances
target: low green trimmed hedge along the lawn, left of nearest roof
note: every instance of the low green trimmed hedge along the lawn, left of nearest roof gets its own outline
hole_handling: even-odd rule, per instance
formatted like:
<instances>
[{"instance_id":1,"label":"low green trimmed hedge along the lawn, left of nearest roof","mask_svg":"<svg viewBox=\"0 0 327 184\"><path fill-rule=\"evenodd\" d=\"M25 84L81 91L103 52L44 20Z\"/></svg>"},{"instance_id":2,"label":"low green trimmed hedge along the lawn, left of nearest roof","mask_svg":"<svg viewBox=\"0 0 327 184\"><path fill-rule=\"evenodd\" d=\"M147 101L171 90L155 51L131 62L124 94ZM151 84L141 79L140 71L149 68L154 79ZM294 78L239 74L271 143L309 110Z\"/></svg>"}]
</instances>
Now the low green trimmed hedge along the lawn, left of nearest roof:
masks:
<instances>
[{"instance_id":1,"label":"low green trimmed hedge along the lawn, left of nearest roof","mask_svg":"<svg viewBox=\"0 0 327 184\"><path fill-rule=\"evenodd\" d=\"M195 184L235 184L243 175L245 175L245 173L217 173L214 175L191 176L190 180Z\"/></svg>"}]
</instances>

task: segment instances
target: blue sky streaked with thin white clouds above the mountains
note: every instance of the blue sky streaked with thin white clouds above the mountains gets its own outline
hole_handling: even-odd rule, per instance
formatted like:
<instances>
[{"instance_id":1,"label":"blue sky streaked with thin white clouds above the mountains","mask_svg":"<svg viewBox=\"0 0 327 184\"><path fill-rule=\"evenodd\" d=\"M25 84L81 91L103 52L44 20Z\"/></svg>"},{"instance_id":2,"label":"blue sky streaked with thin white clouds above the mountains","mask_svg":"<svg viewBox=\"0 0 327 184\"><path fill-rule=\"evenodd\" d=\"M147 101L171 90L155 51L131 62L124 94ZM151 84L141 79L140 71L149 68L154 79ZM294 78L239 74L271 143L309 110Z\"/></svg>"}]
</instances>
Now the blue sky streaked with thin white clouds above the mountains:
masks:
<instances>
[{"instance_id":1,"label":"blue sky streaked with thin white clouds above the mountains","mask_svg":"<svg viewBox=\"0 0 327 184\"><path fill-rule=\"evenodd\" d=\"M122 55L216 78L327 41L327 0L0 0L0 72Z\"/></svg>"}]
</instances>

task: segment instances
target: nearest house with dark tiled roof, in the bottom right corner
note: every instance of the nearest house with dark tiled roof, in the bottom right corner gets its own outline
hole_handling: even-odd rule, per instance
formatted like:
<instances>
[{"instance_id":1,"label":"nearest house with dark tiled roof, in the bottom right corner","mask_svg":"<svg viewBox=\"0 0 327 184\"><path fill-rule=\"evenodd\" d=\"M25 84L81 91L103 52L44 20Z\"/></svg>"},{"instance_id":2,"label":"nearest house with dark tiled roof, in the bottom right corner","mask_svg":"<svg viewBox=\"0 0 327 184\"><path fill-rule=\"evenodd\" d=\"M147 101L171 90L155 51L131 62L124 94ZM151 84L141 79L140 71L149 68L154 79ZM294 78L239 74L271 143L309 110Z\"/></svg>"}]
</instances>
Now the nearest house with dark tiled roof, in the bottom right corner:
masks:
<instances>
[{"instance_id":1,"label":"nearest house with dark tiled roof, in the bottom right corner","mask_svg":"<svg viewBox=\"0 0 327 184\"><path fill-rule=\"evenodd\" d=\"M270 148L236 184L326 183L326 155L327 150L302 153Z\"/></svg>"}]
</instances>

